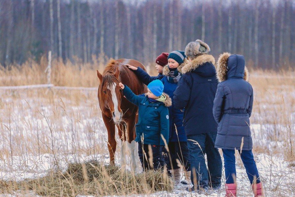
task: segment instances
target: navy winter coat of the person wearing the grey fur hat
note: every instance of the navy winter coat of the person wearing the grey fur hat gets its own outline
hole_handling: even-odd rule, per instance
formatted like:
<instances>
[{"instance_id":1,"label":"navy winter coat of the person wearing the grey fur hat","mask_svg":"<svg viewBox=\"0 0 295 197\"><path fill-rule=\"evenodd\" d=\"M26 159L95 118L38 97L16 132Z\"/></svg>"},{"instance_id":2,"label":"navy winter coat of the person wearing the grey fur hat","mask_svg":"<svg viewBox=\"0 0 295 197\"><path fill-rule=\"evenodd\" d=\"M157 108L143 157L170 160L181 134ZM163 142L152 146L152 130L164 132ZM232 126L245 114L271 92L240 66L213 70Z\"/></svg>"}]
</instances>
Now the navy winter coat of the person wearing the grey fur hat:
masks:
<instances>
[{"instance_id":1,"label":"navy winter coat of the person wearing the grey fur hat","mask_svg":"<svg viewBox=\"0 0 295 197\"><path fill-rule=\"evenodd\" d=\"M174 92L174 106L185 108L183 125L187 135L216 133L212 109L218 85L215 59L203 54L185 64Z\"/></svg>"}]
</instances>

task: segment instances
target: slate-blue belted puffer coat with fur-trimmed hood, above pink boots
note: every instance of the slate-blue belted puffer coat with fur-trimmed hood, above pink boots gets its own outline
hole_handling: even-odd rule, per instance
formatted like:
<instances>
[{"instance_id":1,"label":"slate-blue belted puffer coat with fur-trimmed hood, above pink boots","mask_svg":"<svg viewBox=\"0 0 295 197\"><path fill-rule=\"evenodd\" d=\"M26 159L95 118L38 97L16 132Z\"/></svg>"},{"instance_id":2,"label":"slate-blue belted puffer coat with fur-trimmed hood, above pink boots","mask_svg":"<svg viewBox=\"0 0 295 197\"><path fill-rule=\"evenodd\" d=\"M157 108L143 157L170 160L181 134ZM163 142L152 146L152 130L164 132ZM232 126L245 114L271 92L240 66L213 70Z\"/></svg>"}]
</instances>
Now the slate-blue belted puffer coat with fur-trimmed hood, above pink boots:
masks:
<instances>
[{"instance_id":1,"label":"slate-blue belted puffer coat with fur-trimmed hood, above pink boots","mask_svg":"<svg viewBox=\"0 0 295 197\"><path fill-rule=\"evenodd\" d=\"M218 123L216 148L252 149L249 117L253 105L253 89L248 83L248 70L242 55L224 53L218 59L219 84L213 114Z\"/></svg>"}]
</instances>

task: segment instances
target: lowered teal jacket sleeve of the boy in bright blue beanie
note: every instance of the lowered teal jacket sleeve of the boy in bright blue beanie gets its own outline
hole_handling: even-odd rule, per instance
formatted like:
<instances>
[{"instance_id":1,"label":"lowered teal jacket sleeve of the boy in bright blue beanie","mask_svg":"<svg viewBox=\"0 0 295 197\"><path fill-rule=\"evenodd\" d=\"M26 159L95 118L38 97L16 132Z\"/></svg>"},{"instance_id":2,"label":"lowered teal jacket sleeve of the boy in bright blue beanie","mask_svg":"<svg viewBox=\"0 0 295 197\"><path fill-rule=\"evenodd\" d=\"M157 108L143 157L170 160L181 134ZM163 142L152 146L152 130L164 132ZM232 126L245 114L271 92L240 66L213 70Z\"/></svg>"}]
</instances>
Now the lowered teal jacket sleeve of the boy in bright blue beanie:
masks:
<instances>
[{"instance_id":1,"label":"lowered teal jacket sleeve of the boy in bright blue beanie","mask_svg":"<svg viewBox=\"0 0 295 197\"><path fill-rule=\"evenodd\" d=\"M166 143L168 144L169 140L169 111L168 107L164 107L163 110L160 112L160 134L163 135ZM164 140L160 137L160 145L164 146Z\"/></svg>"}]
</instances>

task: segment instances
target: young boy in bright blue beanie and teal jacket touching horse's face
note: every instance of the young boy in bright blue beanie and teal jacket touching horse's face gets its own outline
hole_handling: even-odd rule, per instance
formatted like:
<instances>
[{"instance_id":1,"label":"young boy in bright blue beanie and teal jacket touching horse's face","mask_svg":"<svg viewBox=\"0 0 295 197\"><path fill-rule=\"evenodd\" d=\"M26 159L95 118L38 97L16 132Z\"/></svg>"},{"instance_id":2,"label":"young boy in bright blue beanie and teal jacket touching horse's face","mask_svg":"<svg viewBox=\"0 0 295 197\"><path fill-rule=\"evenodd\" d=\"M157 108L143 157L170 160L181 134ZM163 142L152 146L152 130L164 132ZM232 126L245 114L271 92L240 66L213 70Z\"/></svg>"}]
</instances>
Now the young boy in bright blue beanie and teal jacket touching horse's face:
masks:
<instances>
[{"instance_id":1,"label":"young boy in bright blue beanie and teal jacket touching horse's face","mask_svg":"<svg viewBox=\"0 0 295 197\"><path fill-rule=\"evenodd\" d=\"M148 84L148 93L145 97L135 95L128 86L122 83L119 83L119 86L128 101L138 106L135 141L138 142L138 155L143 170L152 169L151 163L149 163L151 156L149 145L152 150L153 169L163 170L162 146L165 144L161 135L168 143L168 107L171 106L171 98L163 93L163 83L158 79Z\"/></svg>"}]
</instances>

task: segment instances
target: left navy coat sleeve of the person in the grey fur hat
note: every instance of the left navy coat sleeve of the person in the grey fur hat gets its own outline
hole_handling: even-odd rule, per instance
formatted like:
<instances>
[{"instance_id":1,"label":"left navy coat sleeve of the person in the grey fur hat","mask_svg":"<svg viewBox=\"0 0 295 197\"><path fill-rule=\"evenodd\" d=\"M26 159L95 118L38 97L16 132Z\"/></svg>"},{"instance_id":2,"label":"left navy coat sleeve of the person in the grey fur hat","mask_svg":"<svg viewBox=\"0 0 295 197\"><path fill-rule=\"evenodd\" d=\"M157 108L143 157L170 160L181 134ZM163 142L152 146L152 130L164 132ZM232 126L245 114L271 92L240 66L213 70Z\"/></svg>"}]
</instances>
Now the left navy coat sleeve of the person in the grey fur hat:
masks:
<instances>
[{"instance_id":1,"label":"left navy coat sleeve of the person in the grey fur hat","mask_svg":"<svg viewBox=\"0 0 295 197\"><path fill-rule=\"evenodd\" d=\"M173 103L177 109L182 110L187 106L191 97L191 84L192 80L187 74L184 74L177 83L177 88L173 93Z\"/></svg>"}]
</instances>

